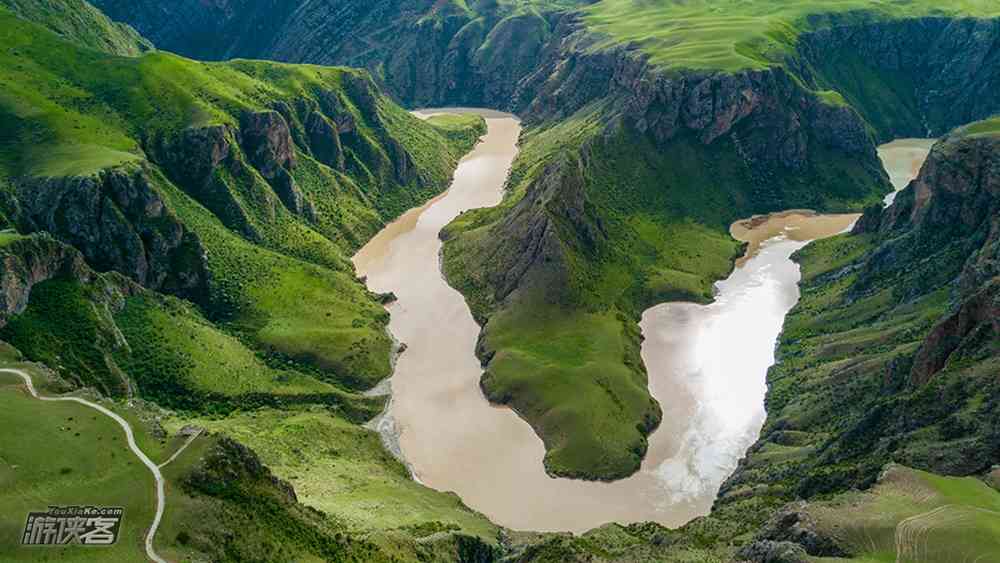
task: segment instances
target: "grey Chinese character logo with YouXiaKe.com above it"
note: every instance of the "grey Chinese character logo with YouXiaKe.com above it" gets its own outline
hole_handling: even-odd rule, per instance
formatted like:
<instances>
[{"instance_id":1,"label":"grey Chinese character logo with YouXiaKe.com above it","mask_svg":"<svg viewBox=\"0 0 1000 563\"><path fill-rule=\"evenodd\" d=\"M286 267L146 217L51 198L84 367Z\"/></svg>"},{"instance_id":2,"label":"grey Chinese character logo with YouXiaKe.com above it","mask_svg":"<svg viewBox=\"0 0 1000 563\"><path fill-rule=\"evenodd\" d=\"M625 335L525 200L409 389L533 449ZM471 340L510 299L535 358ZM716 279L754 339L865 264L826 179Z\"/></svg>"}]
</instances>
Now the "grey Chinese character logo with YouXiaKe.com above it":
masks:
<instances>
[{"instance_id":1,"label":"grey Chinese character logo with YouXiaKe.com above it","mask_svg":"<svg viewBox=\"0 0 1000 563\"><path fill-rule=\"evenodd\" d=\"M32 512L24 525L22 545L114 545L121 529L121 508L50 506Z\"/></svg>"}]
</instances>

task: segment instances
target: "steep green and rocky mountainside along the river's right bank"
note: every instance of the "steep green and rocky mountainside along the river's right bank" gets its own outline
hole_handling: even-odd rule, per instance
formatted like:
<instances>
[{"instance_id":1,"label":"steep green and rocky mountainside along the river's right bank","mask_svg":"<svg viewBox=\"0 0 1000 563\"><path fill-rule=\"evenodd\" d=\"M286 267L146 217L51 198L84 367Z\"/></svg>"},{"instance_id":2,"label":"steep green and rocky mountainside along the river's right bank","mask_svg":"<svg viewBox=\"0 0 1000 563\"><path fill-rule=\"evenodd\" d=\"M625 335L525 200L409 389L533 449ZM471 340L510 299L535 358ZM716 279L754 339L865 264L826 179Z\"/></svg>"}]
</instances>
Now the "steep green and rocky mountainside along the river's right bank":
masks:
<instances>
[{"instance_id":1,"label":"steep green and rocky mountainside along the river's right bank","mask_svg":"<svg viewBox=\"0 0 1000 563\"><path fill-rule=\"evenodd\" d=\"M996 132L949 135L892 207L801 252L768 421L718 514L749 491L760 502L868 487L888 461L960 476L997 463Z\"/></svg>"}]
</instances>

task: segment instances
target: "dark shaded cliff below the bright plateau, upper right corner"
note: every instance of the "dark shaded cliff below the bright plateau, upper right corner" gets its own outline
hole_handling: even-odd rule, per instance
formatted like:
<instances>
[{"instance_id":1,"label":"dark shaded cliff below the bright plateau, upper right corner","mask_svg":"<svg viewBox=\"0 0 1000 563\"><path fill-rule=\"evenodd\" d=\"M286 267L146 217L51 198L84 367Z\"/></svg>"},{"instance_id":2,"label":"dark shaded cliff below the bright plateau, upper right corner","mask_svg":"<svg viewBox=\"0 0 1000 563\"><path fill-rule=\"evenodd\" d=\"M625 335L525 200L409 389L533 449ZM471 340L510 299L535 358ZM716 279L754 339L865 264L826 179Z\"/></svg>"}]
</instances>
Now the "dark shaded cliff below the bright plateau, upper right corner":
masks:
<instances>
[{"instance_id":1,"label":"dark shaded cliff below the bright plateau, upper right corner","mask_svg":"<svg viewBox=\"0 0 1000 563\"><path fill-rule=\"evenodd\" d=\"M838 22L799 40L794 71L841 92L880 141L937 137L1000 111L1000 21Z\"/></svg>"}]
</instances>

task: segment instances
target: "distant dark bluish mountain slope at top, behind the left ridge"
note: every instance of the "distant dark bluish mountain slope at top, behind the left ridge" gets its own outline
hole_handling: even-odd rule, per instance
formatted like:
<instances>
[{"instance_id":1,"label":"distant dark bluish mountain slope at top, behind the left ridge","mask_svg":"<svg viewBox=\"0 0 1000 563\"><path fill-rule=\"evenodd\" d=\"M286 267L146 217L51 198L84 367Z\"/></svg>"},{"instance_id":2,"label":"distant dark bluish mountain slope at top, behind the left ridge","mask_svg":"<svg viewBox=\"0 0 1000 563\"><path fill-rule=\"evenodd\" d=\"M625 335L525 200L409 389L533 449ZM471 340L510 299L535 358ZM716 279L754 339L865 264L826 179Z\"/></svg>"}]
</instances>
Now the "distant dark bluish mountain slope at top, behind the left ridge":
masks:
<instances>
[{"instance_id":1,"label":"distant dark bluish mountain slope at top, behind the left ridge","mask_svg":"<svg viewBox=\"0 0 1000 563\"><path fill-rule=\"evenodd\" d=\"M368 68L414 106L503 107L577 0L100 0L163 49Z\"/></svg>"}]
</instances>

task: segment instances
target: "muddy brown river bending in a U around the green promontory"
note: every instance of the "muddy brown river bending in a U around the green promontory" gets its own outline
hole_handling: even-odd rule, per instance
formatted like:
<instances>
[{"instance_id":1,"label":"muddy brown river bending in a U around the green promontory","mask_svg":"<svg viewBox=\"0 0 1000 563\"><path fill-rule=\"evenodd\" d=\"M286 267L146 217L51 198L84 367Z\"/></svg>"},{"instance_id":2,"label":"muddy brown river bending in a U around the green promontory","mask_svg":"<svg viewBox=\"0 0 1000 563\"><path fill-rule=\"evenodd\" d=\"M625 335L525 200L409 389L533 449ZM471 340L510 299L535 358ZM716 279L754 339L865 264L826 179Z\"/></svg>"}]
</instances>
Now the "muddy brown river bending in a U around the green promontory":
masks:
<instances>
[{"instance_id":1,"label":"muddy brown river bending in a U around the green promontory","mask_svg":"<svg viewBox=\"0 0 1000 563\"><path fill-rule=\"evenodd\" d=\"M531 427L491 406L479 388L479 326L439 268L438 232L464 210L497 204L517 154L513 116L484 112L489 132L459 165L451 189L387 227L355 257L374 291L393 291L390 330L407 344L380 420L413 475L454 491L494 522L545 531L606 522L684 524L706 514L764 422L765 376L785 315L798 300L790 257L839 233L856 215L790 211L733 225L749 245L710 305L646 311L642 357L663 406L641 470L614 483L553 479Z\"/></svg>"}]
</instances>

